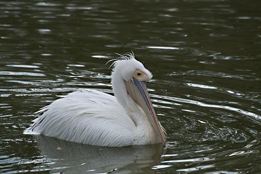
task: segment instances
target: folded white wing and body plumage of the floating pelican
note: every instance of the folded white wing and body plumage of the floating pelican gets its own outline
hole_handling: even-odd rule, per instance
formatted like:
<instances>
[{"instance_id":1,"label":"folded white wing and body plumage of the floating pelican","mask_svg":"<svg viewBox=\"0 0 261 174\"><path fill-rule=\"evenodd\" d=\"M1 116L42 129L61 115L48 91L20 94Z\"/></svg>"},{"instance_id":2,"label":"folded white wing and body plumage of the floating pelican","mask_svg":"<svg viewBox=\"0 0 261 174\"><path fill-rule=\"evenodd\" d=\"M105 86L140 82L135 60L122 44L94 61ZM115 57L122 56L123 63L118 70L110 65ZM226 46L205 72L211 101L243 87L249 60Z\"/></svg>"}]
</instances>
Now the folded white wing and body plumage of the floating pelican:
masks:
<instances>
[{"instance_id":1,"label":"folded white wing and body plumage of the floating pelican","mask_svg":"<svg viewBox=\"0 0 261 174\"><path fill-rule=\"evenodd\" d=\"M72 92L37 113L42 114L27 132L99 146L128 146L134 142L135 124L110 94Z\"/></svg>"}]
</instances>

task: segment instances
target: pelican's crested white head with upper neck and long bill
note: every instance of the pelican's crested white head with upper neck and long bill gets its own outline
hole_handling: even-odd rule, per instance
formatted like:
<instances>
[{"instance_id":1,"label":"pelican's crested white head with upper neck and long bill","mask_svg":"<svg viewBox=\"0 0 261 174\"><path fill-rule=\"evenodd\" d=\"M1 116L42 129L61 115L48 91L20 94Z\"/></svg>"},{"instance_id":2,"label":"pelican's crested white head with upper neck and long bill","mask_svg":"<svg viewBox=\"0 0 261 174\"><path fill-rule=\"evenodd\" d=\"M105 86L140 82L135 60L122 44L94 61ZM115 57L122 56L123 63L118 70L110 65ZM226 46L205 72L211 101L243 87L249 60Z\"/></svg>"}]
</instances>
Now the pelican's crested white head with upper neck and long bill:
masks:
<instances>
[{"instance_id":1,"label":"pelican's crested white head with upper neck and long bill","mask_svg":"<svg viewBox=\"0 0 261 174\"><path fill-rule=\"evenodd\" d=\"M145 119L153 127L154 142L165 144L165 131L158 121L146 87L146 82L153 77L151 72L135 59L133 53L121 55L112 65L112 85L119 103L129 115L141 108L142 115L145 114Z\"/></svg>"}]
</instances>

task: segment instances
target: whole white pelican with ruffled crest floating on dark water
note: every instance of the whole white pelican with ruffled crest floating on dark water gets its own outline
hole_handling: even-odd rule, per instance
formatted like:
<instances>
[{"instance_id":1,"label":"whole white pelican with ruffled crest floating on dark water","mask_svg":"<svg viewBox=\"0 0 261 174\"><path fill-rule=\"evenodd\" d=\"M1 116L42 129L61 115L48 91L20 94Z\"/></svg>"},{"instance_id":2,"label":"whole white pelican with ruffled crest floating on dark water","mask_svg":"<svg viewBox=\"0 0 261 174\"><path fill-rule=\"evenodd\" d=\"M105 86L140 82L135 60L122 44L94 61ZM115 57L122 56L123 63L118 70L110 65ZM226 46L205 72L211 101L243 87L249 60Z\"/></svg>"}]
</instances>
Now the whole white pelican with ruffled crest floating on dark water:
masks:
<instances>
[{"instance_id":1,"label":"whole white pelican with ruffled crest floating on dark water","mask_svg":"<svg viewBox=\"0 0 261 174\"><path fill-rule=\"evenodd\" d=\"M112 61L115 96L91 89L69 93L37 111L26 133L97 146L165 145L146 87L153 75L133 53Z\"/></svg>"}]
</instances>

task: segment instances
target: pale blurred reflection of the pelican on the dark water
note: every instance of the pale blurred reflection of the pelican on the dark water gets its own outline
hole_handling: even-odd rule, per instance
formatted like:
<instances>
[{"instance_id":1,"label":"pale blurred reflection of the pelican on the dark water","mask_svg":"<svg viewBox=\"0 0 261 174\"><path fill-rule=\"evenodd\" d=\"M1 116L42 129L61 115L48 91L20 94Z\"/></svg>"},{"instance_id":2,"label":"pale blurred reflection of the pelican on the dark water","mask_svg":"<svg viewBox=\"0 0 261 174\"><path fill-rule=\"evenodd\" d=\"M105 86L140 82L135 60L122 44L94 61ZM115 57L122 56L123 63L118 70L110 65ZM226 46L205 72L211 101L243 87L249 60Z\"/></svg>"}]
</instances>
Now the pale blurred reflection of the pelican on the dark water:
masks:
<instances>
[{"instance_id":1,"label":"pale blurred reflection of the pelican on the dark water","mask_svg":"<svg viewBox=\"0 0 261 174\"><path fill-rule=\"evenodd\" d=\"M35 136L48 167L44 170L69 173L157 173L162 145L100 147ZM39 170L40 171L40 170Z\"/></svg>"}]
</instances>

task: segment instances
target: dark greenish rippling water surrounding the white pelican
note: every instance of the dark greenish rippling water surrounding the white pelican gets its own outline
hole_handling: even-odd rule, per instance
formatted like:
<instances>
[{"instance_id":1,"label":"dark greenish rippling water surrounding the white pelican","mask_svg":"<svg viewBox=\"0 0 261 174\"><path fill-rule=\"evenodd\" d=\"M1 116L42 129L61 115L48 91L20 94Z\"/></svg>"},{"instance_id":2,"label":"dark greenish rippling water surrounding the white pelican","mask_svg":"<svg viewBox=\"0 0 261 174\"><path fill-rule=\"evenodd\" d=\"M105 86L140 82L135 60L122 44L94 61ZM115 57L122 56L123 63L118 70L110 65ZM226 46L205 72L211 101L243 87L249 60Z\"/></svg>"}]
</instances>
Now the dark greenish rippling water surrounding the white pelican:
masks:
<instances>
[{"instance_id":1,"label":"dark greenish rippling water surrounding the white pelican","mask_svg":"<svg viewBox=\"0 0 261 174\"><path fill-rule=\"evenodd\" d=\"M261 172L260 1L0 2L0 172ZM23 134L71 91L112 93L134 51L166 147L104 148Z\"/></svg>"}]
</instances>

